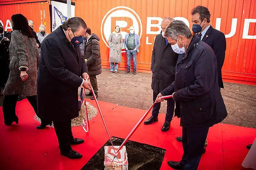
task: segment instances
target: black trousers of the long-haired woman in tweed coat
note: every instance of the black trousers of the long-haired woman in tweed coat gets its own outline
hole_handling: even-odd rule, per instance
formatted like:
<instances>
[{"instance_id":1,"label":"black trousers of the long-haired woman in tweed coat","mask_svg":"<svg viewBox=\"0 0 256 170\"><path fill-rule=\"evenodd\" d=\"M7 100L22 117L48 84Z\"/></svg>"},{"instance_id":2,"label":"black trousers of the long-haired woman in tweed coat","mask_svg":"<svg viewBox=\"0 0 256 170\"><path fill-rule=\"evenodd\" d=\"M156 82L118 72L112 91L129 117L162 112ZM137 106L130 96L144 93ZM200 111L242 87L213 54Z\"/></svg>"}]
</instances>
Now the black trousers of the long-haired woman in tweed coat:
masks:
<instances>
[{"instance_id":1,"label":"black trousers of the long-haired woman in tweed coat","mask_svg":"<svg viewBox=\"0 0 256 170\"><path fill-rule=\"evenodd\" d=\"M4 113L4 122L10 122L14 118L17 117L15 113L15 107L17 104L17 95L5 95L3 101L3 113ZM33 107L34 111L37 113L37 103L36 103L36 96L27 96L27 99L31 106Z\"/></svg>"}]
</instances>

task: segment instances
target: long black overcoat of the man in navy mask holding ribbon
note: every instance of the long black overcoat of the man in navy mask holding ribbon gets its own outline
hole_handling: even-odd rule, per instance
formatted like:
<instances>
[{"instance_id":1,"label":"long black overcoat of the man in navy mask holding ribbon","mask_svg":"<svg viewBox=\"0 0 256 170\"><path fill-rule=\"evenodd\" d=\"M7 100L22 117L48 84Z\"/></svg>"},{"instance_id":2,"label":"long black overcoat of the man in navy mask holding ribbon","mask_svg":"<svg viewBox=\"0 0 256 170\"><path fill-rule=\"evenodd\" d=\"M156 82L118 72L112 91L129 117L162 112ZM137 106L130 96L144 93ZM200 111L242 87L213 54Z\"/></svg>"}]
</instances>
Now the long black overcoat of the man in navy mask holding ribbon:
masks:
<instances>
[{"instance_id":1,"label":"long black overcoat of the man in navy mask holding ribbon","mask_svg":"<svg viewBox=\"0 0 256 170\"><path fill-rule=\"evenodd\" d=\"M78 116L78 87L88 72L79 46L73 47L60 26L41 44L37 76L37 115L46 121Z\"/></svg>"}]
</instances>

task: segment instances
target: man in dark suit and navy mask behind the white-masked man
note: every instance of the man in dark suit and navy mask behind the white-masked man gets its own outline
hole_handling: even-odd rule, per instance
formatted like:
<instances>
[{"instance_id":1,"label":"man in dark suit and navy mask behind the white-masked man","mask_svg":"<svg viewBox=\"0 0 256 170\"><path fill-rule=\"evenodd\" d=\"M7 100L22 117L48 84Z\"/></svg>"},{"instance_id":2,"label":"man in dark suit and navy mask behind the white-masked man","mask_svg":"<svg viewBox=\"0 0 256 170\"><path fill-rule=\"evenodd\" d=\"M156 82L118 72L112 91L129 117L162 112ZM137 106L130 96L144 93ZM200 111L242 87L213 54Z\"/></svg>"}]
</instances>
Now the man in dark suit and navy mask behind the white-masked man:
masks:
<instances>
[{"instance_id":1,"label":"man in dark suit and navy mask behind the white-masked man","mask_svg":"<svg viewBox=\"0 0 256 170\"><path fill-rule=\"evenodd\" d=\"M191 11L191 19L193 23L192 31L196 35L208 44L214 51L217 59L217 72L218 72L218 84L220 88L224 88L221 68L225 59L226 52L226 38L224 33L214 29L210 25L210 11L204 6L197 6ZM182 137L177 137L177 141L182 142ZM207 146L207 140L205 142L205 148Z\"/></svg>"}]
</instances>

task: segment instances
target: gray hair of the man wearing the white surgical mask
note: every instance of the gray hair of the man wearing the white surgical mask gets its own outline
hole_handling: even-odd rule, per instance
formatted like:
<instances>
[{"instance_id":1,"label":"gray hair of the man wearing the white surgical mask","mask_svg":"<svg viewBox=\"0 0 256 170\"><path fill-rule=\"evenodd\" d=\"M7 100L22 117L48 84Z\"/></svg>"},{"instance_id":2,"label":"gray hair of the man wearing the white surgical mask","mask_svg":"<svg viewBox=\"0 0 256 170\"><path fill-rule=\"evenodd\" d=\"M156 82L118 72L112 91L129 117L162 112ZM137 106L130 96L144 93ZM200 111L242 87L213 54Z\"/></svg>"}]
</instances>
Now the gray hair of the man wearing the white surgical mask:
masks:
<instances>
[{"instance_id":1,"label":"gray hair of the man wearing the white surgical mask","mask_svg":"<svg viewBox=\"0 0 256 170\"><path fill-rule=\"evenodd\" d=\"M177 41L179 35L182 35L187 39L192 37L190 29L183 21L172 21L171 24L166 28L164 36L170 37L172 40Z\"/></svg>"}]
</instances>

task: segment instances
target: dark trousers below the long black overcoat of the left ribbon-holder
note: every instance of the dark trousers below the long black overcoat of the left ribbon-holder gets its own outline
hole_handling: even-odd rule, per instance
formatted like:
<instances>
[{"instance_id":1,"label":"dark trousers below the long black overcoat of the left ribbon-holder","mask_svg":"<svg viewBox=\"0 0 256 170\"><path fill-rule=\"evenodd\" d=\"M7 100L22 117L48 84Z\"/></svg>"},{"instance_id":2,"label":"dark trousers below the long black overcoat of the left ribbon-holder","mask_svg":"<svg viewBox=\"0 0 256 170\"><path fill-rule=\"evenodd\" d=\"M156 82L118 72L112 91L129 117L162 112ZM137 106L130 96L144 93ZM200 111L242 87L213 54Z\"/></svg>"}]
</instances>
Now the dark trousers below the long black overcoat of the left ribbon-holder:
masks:
<instances>
[{"instance_id":1,"label":"dark trousers below the long black overcoat of the left ribbon-holder","mask_svg":"<svg viewBox=\"0 0 256 170\"><path fill-rule=\"evenodd\" d=\"M58 137L60 152L68 152L71 149L70 141L74 140L71 131L71 119L65 122L53 121L53 125Z\"/></svg>"}]
</instances>

